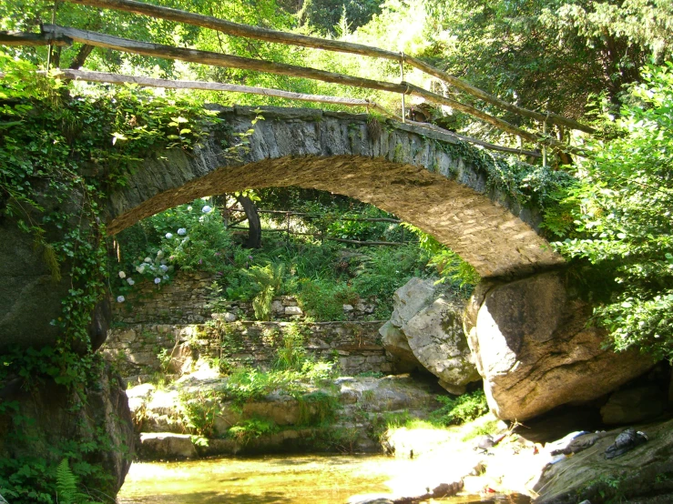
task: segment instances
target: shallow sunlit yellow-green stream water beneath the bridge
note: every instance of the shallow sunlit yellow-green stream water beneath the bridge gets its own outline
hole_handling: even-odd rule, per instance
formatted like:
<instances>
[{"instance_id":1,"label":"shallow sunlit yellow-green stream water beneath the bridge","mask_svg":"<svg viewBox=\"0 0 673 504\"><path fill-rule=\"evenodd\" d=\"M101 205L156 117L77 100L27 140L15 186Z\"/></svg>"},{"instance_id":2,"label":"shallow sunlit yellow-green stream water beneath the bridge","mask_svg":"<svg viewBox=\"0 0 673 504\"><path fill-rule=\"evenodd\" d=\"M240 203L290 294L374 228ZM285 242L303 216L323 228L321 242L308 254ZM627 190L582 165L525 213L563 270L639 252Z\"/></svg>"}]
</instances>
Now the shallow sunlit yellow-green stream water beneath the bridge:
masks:
<instances>
[{"instance_id":1,"label":"shallow sunlit yellow-green stream water beneath the bridge","mask_svg":"<svg viewBox=\"0 0 673 504\"><path fill-rule=\"evenodd\" d=\"M134 463L117 496L124 504L342 504L388 493L385 482L413 473L413 460L384 456L300 455ZM442 499L442 502L494 502ZM527 502L528 499L498 499Z\"/></svg>"}]
</instances>

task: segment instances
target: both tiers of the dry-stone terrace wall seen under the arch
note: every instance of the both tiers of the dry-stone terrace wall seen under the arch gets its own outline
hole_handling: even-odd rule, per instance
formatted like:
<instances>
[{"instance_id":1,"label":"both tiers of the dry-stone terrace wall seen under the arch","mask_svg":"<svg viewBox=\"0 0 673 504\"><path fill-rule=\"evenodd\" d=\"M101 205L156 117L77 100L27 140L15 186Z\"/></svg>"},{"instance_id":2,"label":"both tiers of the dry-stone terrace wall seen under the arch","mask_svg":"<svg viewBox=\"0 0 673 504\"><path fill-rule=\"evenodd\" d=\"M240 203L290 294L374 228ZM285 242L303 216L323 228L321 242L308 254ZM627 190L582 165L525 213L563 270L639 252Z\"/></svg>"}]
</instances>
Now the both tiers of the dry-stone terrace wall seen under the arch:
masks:
<instances>
[{"instance_id":1,"label":"both tiers of the dry-stone terrace wall seen under the arch","mask_svg":"<svg viewBox=\"0 0 673 504\"><path fill-rule=\"evenodd\" d=\"M273 321L254 321L250 303L235 301L219 312L209 307L212 278L178 274L170 284L139 284L124 303L114 303L115 327L102 351L126 377L173 374L199 358L224 368L270 368L286 334L301 334L307 353L337 362L342 374L393 371L371 320L375 307L344 305L346 320L306 322L294 297L278 297Z\"/></svg>"}]
</instances>

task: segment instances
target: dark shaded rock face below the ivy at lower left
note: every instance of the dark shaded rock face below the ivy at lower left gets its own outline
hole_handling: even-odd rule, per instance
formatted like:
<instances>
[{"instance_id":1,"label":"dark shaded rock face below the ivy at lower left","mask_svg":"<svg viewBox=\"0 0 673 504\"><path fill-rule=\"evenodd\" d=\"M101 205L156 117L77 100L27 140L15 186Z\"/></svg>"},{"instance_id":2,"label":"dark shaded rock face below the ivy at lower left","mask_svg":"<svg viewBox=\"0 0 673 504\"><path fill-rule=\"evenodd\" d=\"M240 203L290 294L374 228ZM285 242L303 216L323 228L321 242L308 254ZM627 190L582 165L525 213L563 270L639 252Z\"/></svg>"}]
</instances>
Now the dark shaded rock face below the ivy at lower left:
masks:
<instances>
[{"instance_id":1,"label":"dark shaded rock face below the ivy at lower left","mask_svg":"<svg viewBox=\"0 0 673 504\"><path fill-rule=\"evenodd\" d=\"M29 392L23 388L3 390L3 401L15 402L18 411L0 415L0 459L45 459L52 466L61 461L60 447L67 443L87 443L94 447L87 462L101 465L110 479L104 487L89 489L106 495L117 495L126 478L134 456L136 434L127 405L123 384L117 373L104 368L93 377L92 385L84 390L87 402L82 402L76 390L46 381ZM14 415L24 422L21 435L14 431ZM101 444L107 438L109 444Z\"/></svg>"}]
</instances>

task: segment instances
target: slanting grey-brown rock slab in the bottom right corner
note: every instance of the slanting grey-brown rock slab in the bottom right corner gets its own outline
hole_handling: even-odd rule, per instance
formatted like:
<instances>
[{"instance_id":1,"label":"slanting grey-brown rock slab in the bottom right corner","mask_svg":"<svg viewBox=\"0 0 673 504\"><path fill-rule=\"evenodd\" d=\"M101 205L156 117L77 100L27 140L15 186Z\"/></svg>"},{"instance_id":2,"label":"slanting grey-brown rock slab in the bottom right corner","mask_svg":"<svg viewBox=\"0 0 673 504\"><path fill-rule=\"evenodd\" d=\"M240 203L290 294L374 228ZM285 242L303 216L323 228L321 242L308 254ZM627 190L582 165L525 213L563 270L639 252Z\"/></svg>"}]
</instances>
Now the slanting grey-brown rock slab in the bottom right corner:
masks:
<instances>
[{"instance_id":1,"label":"slanting grey-brown rock slab in the bottom right corner","mask_svg":"<svg viewBox=\"0 0 673 504\"><path fill-rule=\"evenodd\" d=\"M637 427L649 441L616 459L606 459L605 451L624 428L597 439L591 448L563 459L544 472L535 485L540 497L536 504L571 504L588 499L604 502L671 502L673 480L673 420ZM648 500L653 497L661 500Z\"/></svg>"}]
</instances>

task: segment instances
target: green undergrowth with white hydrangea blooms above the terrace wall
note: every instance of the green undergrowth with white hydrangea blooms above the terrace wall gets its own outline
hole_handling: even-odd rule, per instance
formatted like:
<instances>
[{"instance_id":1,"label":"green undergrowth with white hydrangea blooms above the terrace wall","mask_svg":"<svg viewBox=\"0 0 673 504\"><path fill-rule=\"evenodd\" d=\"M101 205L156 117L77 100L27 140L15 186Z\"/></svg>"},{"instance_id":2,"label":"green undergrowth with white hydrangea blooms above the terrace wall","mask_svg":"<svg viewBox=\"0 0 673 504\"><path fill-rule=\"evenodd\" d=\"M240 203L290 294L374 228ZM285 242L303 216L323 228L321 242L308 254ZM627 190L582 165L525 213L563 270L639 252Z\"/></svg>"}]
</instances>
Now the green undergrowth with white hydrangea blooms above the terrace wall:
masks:
<instances>
[{"instance_id":1,"label":"green undergrowth with white hydrangea blooms above the terrace wall","mask_svg":"<svg viewBox=\"0 0 673 504\"><path fill-rule=\"evenodd\" d=\"M462 297L479 281L474 268L416 227L405 227L409 243L397 247L356 248L316 237L263 233L259 249L246 249L214 205L210 199L195 200L119 233L121 263L111 274L115 297L127 297L140 279L160 288L177 270L199 270L214 279L209 305L216 311L249 301L258 320L270 320L273 297L293 296L315 321L345 319L343 305L359 301L374 307L370 318L382 320L392 313L394 291L411 277L440 278ZM376 211L374 215L393 217ZM356 224L358 229L341 229L341 236L351 239L346 233L352 232L362 237L360 228L366 226Z\"/></svg>"}]
</instances>

